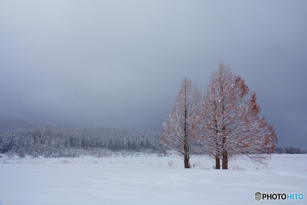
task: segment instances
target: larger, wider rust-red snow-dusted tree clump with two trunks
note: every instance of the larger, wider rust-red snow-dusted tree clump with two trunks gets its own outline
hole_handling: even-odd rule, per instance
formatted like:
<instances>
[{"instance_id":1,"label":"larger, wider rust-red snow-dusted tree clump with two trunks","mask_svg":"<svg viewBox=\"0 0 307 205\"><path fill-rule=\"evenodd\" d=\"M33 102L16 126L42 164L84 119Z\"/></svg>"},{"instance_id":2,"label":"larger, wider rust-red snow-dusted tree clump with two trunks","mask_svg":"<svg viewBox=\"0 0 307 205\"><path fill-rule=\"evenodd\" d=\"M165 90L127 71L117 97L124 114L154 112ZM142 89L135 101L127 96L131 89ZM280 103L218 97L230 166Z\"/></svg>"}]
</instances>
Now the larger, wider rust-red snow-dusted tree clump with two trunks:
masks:
<instances>
[{"instance_id":1,"label":"larger, wider rust-red snow-dusted tree clump with two trunks","mask_svg":"<svg viewBox=\"0 0 307 205\"><path fill-rule=\"evenodd\" d=\"M198 140L216 160L216 169L228 169L232 157L247 156L255 164L270 158L278 138L273 126L259 116L255 92L222 62L213 72L198 118Z\"/></svg>"}]
</instances>

